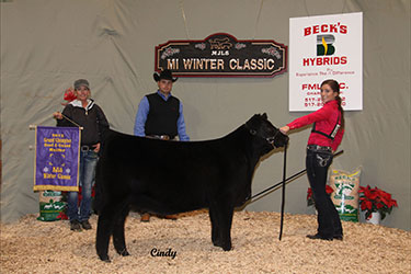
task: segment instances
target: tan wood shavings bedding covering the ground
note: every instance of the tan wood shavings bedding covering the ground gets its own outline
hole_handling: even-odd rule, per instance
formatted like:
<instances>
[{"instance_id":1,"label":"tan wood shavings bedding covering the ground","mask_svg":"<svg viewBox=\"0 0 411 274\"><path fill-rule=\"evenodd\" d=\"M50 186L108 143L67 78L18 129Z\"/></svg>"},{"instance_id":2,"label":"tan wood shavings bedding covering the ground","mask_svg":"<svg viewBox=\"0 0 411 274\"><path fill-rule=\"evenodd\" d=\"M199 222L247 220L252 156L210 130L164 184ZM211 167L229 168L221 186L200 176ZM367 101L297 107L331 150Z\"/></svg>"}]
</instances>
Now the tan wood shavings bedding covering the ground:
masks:
<instances>
[{"instance_id":1,"label":"tan wood shavings bedding covering the ground","mask_svg":"<svg viewBox=\"0 0 411 274\"><path fill-rule=\"evenodd\" d=\"M36 217L0 225L1 273L411 273L410 231L343 221L343 241L310 240L315 215L286 215L279 241L278 213L237 212L233 249L225 252L212 243L206 210L145 224L130 213L130 255L119 256L111 243L112 263L96 256L95 215L93 229L81 232L71 231L67 220Z\"/></svg>"}]
</instances>

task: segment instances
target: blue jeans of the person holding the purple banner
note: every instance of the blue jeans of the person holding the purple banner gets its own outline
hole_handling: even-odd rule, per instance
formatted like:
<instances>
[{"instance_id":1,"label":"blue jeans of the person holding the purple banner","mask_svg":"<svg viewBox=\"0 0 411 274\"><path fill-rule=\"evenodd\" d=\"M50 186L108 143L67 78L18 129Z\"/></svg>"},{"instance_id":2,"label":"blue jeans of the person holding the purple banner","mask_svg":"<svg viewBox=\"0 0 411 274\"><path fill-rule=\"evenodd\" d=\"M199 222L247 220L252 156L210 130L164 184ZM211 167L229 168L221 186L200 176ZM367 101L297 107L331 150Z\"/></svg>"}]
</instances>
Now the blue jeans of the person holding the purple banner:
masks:
<instances>
[{"instance_id":1,"label":"blue jeans of the person holding the purple banner","mask_svg":"<svg viewBox=\"0 0 411 274\"><path fill-rule=\"evenodd\" d=\"M80 210L78 206L79 193L71 191L67 195L67 216L69 220L88 220L91 210L91 189L94 182L95 165L98 163L98 153L89 151L80 151L80 169L79 169L79 184L81 186L81 205Z\"/></svg>"}]
</instances>

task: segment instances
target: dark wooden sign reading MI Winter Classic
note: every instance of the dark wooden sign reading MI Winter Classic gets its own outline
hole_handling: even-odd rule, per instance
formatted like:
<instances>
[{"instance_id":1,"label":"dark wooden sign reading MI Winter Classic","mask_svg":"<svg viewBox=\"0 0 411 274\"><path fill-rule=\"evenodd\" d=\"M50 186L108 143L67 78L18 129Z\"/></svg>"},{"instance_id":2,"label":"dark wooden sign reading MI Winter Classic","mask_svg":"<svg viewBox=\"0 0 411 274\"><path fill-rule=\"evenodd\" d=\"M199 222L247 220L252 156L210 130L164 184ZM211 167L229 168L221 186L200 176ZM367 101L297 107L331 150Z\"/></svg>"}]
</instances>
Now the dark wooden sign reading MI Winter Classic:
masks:
<instances>
[{"instance_id":1,"label":"dark wooden sign reading MI Winter Classic","mask_svg":"<svg viewBox=\"0 0 411 274\"><path fill-rule=\"evenodd\" d=\"M178 77L274 77L287 70L287 46L272 39L238 41L216 33L203 41L169 41L156 47L156 67Z\"/></svg>"}]
</instances>

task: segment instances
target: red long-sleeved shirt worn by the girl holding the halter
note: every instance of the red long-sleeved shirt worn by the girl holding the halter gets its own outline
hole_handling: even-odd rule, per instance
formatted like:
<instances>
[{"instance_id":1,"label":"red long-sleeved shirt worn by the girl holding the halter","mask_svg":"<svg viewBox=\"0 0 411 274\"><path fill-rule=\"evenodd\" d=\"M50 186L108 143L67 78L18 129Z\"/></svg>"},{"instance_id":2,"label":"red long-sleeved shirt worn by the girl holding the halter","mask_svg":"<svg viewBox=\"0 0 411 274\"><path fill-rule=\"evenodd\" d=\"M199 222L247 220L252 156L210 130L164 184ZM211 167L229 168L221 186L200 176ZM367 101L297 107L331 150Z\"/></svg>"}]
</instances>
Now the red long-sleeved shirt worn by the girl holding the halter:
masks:
<instances>
[{"instance_id":1,"label":"red long-sleeved shirt worn by the girl holding the halter","mask_svg":"<svg viewBox=\"0 0 411 274\"><path fill-rule=\"evenodd\" d=\"M336 100L332 100L332 101L327 102L320 110L313 113L310 113L308 115L305 115L302 117L296 118L292 123L287 124L287 126L289 126L290 129L294 129L294 128L299 128L299 127L317 122L316 130L324 133L324 134L331 134L331 132L334 129L339 115L340 115L339 104ZM334 140L331 140L330 138L321 134L311 133L310 137L308 138L307 145L331 147L332 150L336 150L336 148L341 144L343 135L344 135L344 129L342 128L340 128L339 132L336 133Z\"/></svg>"}]
</instances>

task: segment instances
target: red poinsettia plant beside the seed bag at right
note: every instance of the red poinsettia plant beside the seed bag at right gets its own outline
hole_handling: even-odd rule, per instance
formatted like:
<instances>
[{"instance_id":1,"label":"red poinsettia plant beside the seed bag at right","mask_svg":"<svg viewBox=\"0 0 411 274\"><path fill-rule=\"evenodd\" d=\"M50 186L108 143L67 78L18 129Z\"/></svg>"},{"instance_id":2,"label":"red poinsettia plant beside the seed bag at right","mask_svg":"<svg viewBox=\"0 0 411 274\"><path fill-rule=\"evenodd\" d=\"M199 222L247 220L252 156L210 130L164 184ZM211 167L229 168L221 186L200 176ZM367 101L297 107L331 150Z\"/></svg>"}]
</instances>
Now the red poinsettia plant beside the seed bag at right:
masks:
<instances>
[{"instance_id":1,"label":"red poinsettia plant beside the seed bag at right","mask_svg":"<svg viewBox=\"0 0 411 274\"><path fill-rule=\"evenodd\" d=\"M359 186L358 193L359 206L363 212L365 210L366 219L369 219L373 213L378 212L383 220L387 214L392 212L395 206L398 207L397 201L391 197L391 194L378 187Z\"/></svg>"}]
</instances>

